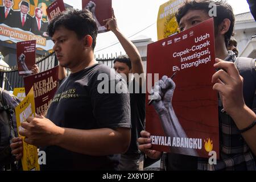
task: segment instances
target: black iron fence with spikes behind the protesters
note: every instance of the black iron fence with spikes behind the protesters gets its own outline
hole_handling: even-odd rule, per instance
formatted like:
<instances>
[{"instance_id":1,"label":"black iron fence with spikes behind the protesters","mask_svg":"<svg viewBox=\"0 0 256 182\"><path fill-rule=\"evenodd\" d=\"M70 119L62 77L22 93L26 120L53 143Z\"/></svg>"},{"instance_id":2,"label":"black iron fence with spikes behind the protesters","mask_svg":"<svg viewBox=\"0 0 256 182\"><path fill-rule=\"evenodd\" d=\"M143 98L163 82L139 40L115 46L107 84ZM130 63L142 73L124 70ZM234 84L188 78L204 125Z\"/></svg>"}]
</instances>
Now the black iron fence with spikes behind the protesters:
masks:
<instances>
[{"instance_id":1,"label":"black iron fence with spikes behind the protesters","mask_svg":"<svg viewBox=\"0 0 256 182\"><path fill-rule=\"evenodd\" d=\"M117 57L117 53L115 53L115 57ZM113 68L113 60L115 59L113 55L98 55L95 56L95 59L102 64L107 65L110 68ZM55 67L58 64L57 59L55 57L55 53L51 53L46 57L42 57L36 62L36 65L39 67L39 72L47 71ZM67 70L69 75L70 71ZM6 90L13 90L14 88L22 88L24 87L23 76L20 76L18 73L18 68L6 68L5 70L0 72L0 87Z\"/></svg>"}]
</instances>

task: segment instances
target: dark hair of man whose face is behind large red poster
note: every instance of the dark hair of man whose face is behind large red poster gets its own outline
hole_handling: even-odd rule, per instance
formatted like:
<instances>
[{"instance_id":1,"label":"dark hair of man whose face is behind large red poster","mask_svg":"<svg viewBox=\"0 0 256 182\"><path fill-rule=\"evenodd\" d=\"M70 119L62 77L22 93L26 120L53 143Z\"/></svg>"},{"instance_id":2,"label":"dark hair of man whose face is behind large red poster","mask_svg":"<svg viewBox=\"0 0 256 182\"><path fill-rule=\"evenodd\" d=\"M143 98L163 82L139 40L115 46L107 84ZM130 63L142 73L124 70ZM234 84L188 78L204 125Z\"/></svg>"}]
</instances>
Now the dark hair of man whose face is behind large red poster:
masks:
<instances>
[{"instance_id":1,"label":"dark hair of man whose face is behind large red poster","mask_svg":"<svg viewBox=\"0 0 256 182\"><path fill-rule=\"evenodd\" d=\"M230 20L230 27L225 36L225 44L228 46L230 37L233 34L235 17L232 7L225 0L187 0L179 7L176 13L177 22L180 24L181 18L187 14L189 10L204 10L207 14L212 9L209 7L210 3L216 5L217 16L213 16L214 27L217 28L224 19Z\"/></svg>"}]
</instances>

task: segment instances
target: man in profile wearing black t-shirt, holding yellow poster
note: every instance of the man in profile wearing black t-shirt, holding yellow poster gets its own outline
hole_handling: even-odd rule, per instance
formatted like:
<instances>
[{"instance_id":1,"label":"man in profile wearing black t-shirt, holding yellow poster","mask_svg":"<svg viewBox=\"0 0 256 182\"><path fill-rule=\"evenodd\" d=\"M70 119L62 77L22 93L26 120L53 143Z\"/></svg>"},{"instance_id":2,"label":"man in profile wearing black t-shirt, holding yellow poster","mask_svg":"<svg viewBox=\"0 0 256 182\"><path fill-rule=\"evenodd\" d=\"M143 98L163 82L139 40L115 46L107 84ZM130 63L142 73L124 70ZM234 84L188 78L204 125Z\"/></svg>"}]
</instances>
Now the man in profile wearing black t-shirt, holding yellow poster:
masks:
<instances>
[{"instance_id":1,"label":"man in profile wearing black t-shirt, holding yellow poster","mask_svg":"<svg viewBox=\"0 0 256 182\"><path fill-rule=\"evenodd\" d=\"M126 83L94 59L97 25L92 14L65 11L51 21L48 35L59 64L71 69L71 75L61 81L46 118L28 118L20 135L46 152L42 170L117 169L115 154L126 152L130 143L130 98L128 93L101 92L102 81ZM22 139L15 138L11 148L20 159Z\"/></svg>"}]
</instances>

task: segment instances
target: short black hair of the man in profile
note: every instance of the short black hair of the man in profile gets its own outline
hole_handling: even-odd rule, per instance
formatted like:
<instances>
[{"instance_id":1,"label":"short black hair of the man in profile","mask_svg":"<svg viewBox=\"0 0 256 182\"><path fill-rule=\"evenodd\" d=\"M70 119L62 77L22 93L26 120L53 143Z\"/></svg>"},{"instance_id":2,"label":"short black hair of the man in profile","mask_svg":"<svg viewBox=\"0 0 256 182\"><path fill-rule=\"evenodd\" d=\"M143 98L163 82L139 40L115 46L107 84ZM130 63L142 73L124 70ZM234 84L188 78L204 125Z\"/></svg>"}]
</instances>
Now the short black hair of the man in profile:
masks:
<instances>
[{"instance_id":1,"label":"short black hair of the man in profile","mask_svg":"<svg viewBox=\"0 0 256 182\"><path fill-rule=\"evenodd\" d=\"M77 38L82 39L86 35L93 38L92 48L96 46L96 38L98 28L92 13L88 10L68 9L59 16L56 16L48 26L48 35L53 36L54 32L60 26L64 26L68 30L75 31Z\"/></svg>"}]
</instances>

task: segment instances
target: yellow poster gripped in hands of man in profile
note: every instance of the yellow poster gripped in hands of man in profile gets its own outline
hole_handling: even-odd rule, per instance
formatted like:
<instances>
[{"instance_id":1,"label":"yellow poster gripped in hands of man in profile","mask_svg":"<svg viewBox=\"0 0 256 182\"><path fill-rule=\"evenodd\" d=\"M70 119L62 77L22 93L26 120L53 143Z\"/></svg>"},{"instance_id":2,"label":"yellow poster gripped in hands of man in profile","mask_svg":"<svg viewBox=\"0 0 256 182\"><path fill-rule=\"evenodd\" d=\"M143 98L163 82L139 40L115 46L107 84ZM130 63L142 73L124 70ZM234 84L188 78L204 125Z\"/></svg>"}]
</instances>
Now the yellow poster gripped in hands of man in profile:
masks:
<instances>
[{"instance_id":1,"label":"yellow poster gripped in hands of man in profile","mask_svg":"<svg viewBox=\"0 0 256 182\"><path fill-rule=\"evenodd\" d=\"M35 101L33 88L28 92L27 97L15 108L16 122L18 131L24 130L21 127L22 122L27 122L28 117L35 117ZM22 137L19 135L19 137ZM24 142L23 138L23 157L22 168L23 171L39 171L38 163L38 147Z\"/></svg>"}]
</instances>

